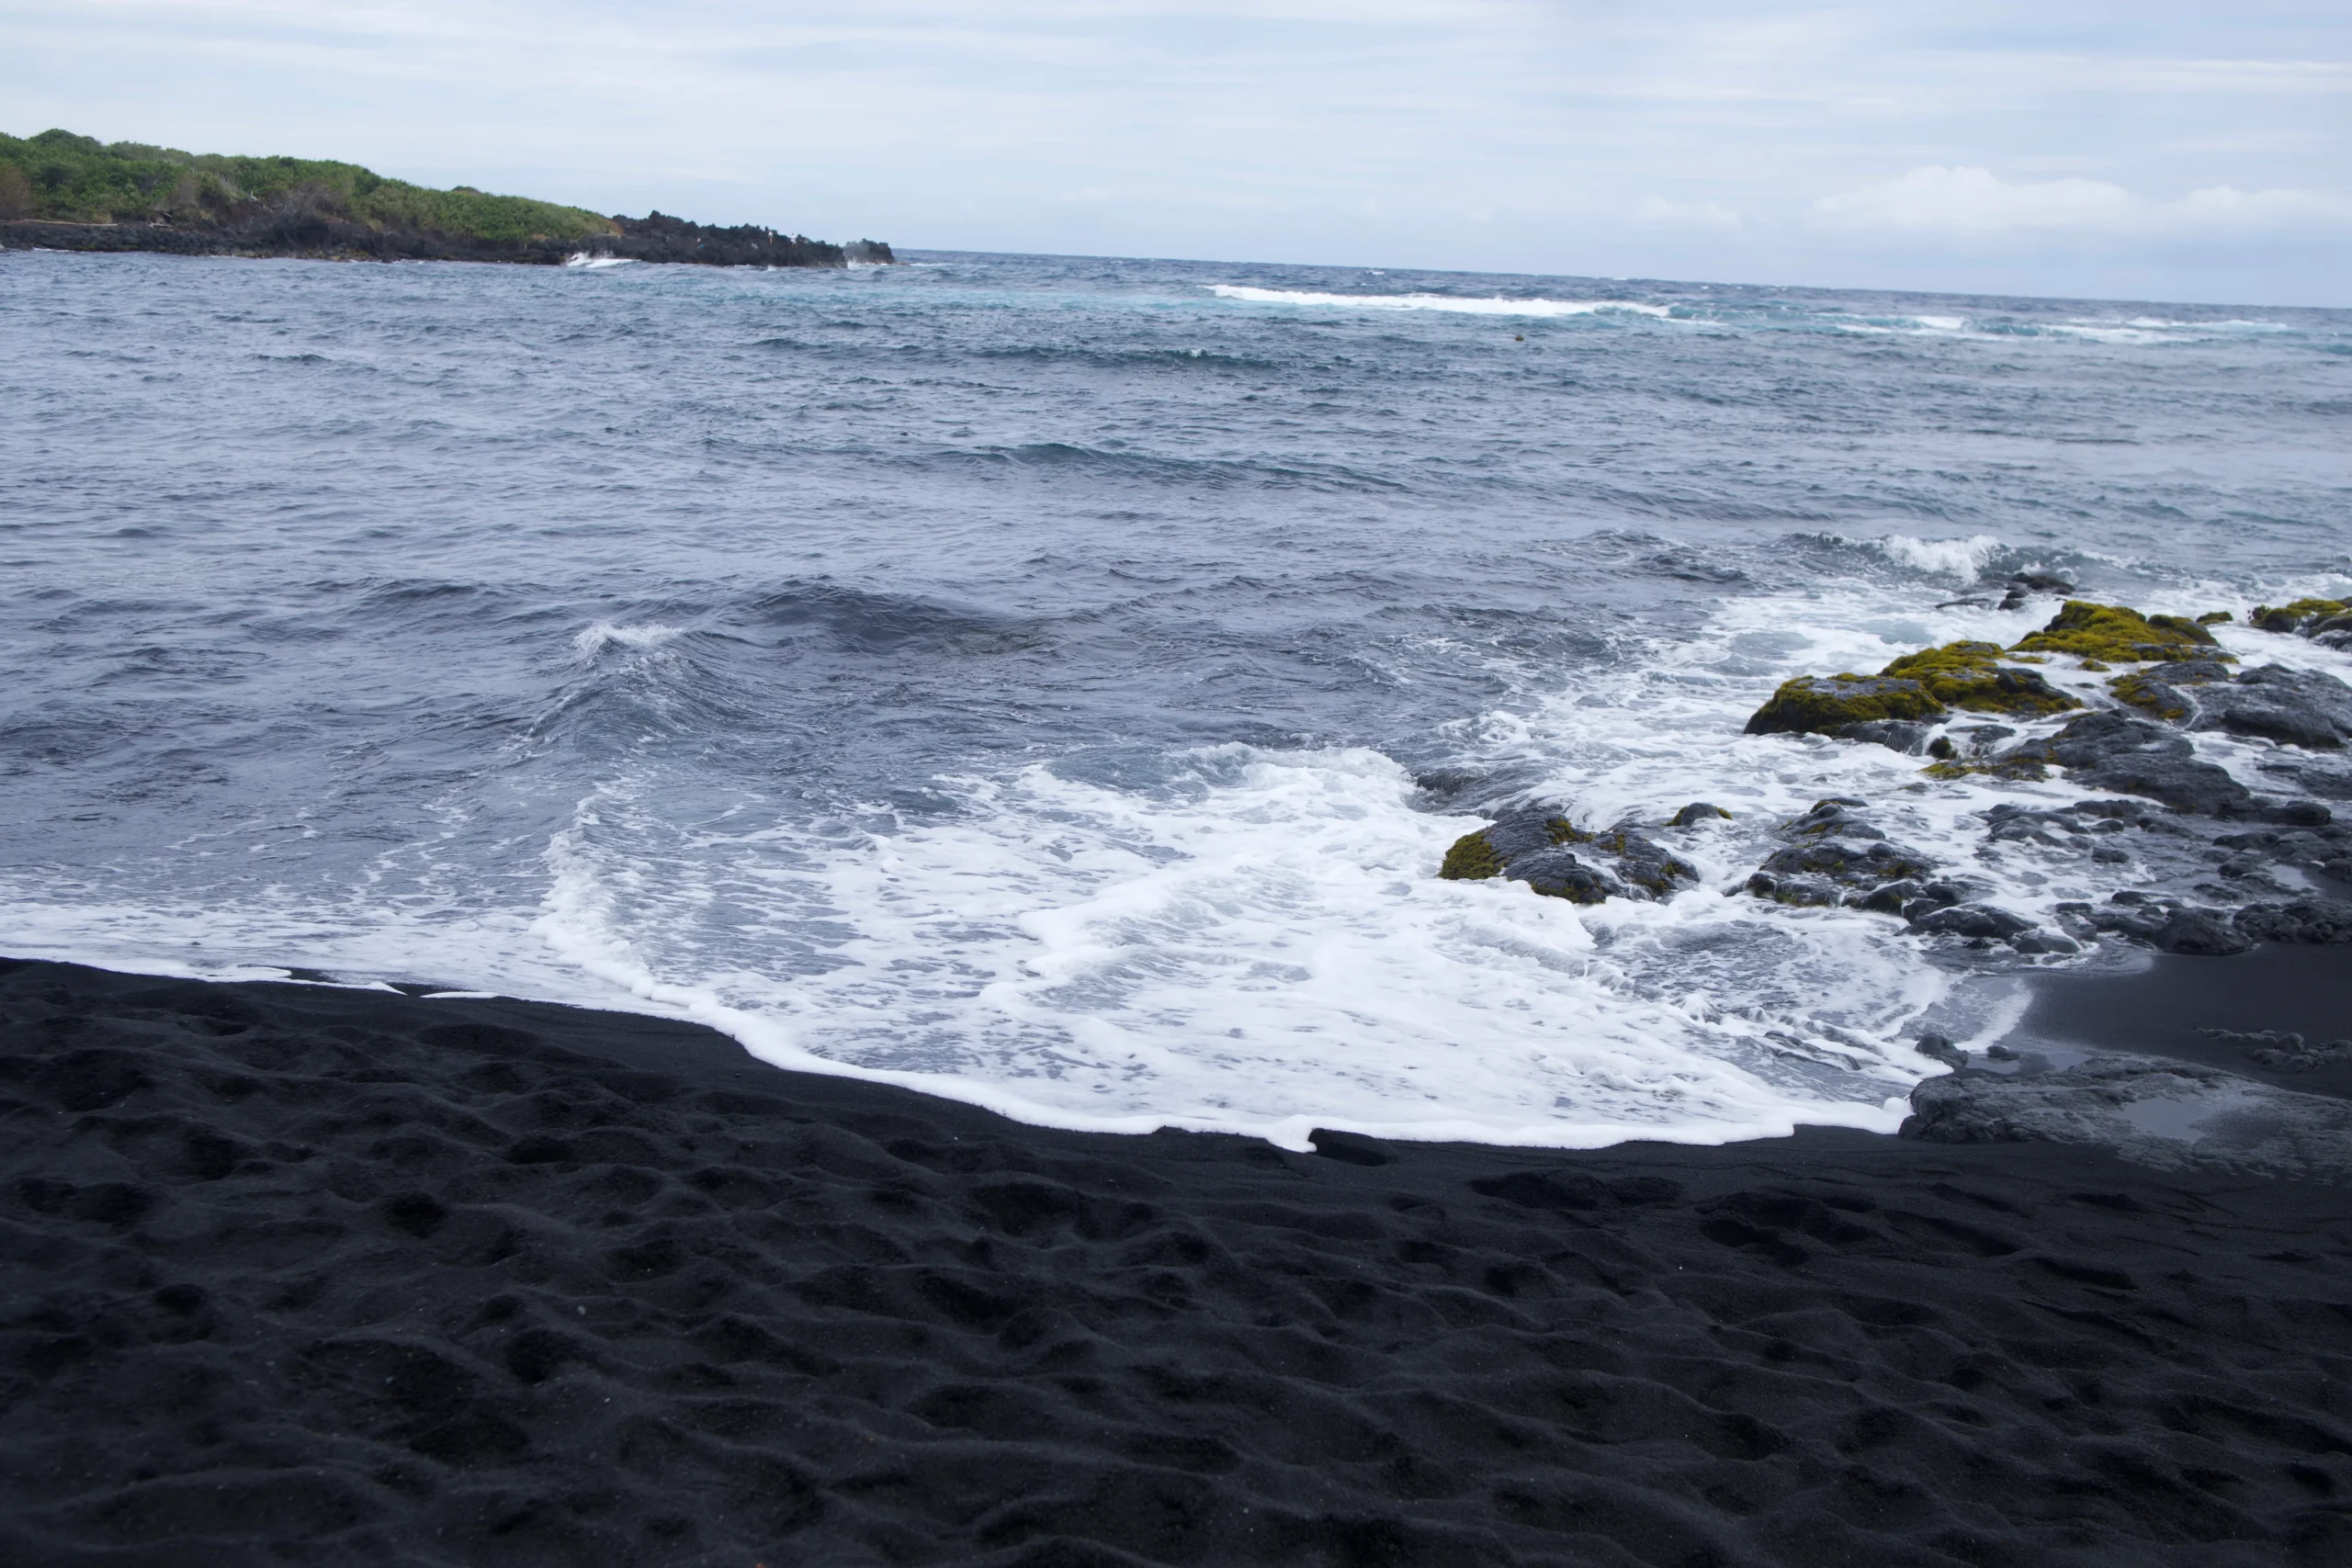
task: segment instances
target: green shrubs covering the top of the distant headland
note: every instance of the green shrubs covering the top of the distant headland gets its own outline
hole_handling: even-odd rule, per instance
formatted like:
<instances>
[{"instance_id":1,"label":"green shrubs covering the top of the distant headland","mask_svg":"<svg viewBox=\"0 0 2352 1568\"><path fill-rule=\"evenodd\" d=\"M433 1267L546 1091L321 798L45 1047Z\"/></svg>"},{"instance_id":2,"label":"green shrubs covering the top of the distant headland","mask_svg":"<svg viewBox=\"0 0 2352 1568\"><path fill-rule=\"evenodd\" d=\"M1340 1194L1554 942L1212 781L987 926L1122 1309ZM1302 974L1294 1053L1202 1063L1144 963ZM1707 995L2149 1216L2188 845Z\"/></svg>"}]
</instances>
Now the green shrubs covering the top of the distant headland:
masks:
<instances>
[{"instance_id":1,"label":"green shrubs covering the top of the distant headland","mask_svg":"<svg viewBox=\"0 0 2352 1568\"><path fill-rule=\"evenodd\" d=\"M0 136L0 219L49 223L226 223L308 205L379 230L487 244L569 242L614 233L609 219L470 186L426 190L315 158L219 158L73 132Z\"/></svg>"}]
</instances>

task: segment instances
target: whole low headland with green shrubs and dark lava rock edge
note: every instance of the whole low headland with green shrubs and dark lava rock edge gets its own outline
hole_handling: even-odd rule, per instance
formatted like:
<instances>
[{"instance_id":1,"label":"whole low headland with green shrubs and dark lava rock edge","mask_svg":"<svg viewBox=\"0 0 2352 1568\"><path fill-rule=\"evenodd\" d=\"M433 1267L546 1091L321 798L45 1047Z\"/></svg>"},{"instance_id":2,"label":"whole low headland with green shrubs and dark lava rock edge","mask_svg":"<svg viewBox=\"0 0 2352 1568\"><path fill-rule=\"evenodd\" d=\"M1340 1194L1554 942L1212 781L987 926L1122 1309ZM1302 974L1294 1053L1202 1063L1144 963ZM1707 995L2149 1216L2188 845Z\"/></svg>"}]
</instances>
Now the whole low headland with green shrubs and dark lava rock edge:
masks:
<instances>
[{"instance_id":1,"label":"whole low headland with green shrubs and dark lava rock edge","mask_svg":"<svg viewBox=\"0 0 2352 1568\"><path fill-rule=\"evenodd\" d=\"M510 261L574 256L701 266L894 261L889 244L830 244L774 228L717 228L654 212L428 190L348 162L219 158L73 132L0 136L0 249Z\"/></svg>"}]
</instances>

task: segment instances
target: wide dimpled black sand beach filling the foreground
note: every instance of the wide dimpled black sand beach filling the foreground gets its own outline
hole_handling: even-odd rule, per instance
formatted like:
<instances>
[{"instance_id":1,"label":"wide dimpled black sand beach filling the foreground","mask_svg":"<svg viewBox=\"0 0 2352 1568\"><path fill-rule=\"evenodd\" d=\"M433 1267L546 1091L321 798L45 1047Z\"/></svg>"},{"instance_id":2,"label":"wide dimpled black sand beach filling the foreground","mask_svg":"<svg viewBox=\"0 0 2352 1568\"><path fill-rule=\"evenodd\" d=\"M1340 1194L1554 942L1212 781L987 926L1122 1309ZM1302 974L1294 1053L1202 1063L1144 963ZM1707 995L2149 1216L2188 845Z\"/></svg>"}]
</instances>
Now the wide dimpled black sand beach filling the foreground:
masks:
<instances>
[{"instance_id":1,"label":"wide dimpled black sand beach filling the foreground","mask_svg":"<svg viewBox=\"0 0 2352 1568\"><path fill-rule=\"evenodd\" d=\"M0 973L7 1563L2352 1561L2352 1201L1108 1138L513 1001Z\"/></svg>"}]
</instances>

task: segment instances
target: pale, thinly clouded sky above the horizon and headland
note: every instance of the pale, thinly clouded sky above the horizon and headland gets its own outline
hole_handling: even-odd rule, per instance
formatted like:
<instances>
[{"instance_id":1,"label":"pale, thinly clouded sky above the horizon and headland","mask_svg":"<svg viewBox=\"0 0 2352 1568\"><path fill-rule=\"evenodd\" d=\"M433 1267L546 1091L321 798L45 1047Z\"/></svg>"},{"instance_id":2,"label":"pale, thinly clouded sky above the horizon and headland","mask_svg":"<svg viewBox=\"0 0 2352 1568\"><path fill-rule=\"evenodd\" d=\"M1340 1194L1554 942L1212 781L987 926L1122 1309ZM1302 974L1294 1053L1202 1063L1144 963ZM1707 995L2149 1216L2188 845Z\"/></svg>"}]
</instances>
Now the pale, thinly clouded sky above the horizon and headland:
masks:
<instances>
[{"instance_id":1,"label":"pale, thinly clouded sky above the horizon and headland","mask_svg":"<svg viewBox=\"0 0 2352 1568\"><path fill-rule=\"evenodd\" d=\"M2352 306L2352 2L0 0L0 129L917 249Z\"/></svg>"}]
</instances>

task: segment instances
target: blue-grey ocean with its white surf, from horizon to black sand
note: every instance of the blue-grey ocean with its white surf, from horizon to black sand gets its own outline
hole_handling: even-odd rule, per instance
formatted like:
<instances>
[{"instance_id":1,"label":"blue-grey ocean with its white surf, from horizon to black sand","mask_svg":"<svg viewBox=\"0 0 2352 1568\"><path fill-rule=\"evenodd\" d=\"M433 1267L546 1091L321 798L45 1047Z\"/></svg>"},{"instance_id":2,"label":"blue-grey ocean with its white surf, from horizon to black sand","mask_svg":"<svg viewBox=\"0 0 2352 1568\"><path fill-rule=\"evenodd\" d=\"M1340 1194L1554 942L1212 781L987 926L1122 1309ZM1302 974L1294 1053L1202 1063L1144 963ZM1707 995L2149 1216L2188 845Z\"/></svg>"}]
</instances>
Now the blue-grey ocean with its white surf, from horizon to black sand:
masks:
<instances>
[{"instance_id":1,"label":"blue-grey ocean with its white surf, from horizon to black sand","mask_svg":"<svg viewBox=\"0 0 2352 1568\"><path fill-rule=\"evenodd\" d=\"M1773 827L1870 799L2027 914L2138 872L1985 842L2063 778L1748 712L2013 642L2018 569L2352 588L2326 310L19 252L0 407L0 950L1291 1147L1891 1128L1922 1023L2100 959L1750 898ZM1668 903L1435 877L1536 797L1733 816Z\"/></svg>"}]
</instances>

